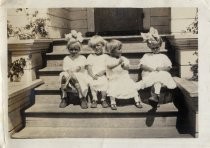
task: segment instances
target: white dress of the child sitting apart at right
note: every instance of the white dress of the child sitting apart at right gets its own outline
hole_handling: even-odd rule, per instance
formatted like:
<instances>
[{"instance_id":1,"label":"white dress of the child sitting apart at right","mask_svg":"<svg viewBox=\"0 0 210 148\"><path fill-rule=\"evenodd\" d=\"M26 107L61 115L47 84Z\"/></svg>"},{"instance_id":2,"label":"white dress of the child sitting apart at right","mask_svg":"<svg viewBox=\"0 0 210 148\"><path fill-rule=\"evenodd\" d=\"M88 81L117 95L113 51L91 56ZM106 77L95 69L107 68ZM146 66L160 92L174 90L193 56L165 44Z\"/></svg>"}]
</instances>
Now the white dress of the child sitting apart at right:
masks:
<instances>
[{"instance_id":1,"label":"white dress of the child sitting apart at right","mask_svg":"<svg viewBox=\"0 0 210 148\"><path fill-rule=\"evenodd\" d=\"M156 69L157 67L172 67L171 61L166 55L153 53L145 54L140 59L140 65L146 65L153 69ZM143 70L142 81L144 84L144 88L151 87L156 82L160 82L169 89L176 88L175 81L173 80L171 74L167 71L149 72Z\"/></svg>"}]
</instances>

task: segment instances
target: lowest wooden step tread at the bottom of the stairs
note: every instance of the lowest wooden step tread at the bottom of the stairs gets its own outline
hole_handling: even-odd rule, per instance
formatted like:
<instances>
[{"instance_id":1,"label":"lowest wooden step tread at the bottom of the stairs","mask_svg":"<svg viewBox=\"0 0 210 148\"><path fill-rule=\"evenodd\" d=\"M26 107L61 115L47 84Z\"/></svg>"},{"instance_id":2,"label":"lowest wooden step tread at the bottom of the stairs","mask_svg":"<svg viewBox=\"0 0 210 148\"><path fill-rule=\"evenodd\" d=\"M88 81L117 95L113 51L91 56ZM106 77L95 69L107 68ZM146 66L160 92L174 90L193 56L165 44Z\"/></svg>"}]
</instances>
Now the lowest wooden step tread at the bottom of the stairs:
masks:
<instances>
[{"instance_id":1,"label":"lowest wooden step tread at the bottom of the stairs","mask_svg":"<svg viewBox=\"0 0 210 148\"><path fill-rule=\"evenodd\" d=\"M193 138L175 127L158 128L71 128L25 127L12 138Z\"/></svg>"}]
</instances>

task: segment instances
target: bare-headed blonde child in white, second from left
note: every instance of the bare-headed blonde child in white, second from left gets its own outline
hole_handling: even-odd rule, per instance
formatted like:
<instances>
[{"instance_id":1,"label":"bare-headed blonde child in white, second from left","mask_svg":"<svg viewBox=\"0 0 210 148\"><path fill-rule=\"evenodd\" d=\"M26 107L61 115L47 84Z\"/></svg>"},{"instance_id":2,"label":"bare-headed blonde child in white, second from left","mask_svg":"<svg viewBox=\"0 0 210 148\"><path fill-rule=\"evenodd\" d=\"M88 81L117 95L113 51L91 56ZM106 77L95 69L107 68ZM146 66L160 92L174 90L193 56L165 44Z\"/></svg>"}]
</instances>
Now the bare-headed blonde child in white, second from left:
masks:
<instances>
[{"instance_id":1,"label":"bare-headed blonde child in white, second from left","mask_svg":"<svg viewBox=\"0 0 210 148\"><path fill-rule=\"evenodd\" d=\"M91 37L88 42L88 46L94 51L87 58L88 74L90 76L90 90L93 96L92 108L97 107L97 93L101 92L102 107L108 107L106 102L106 91L108 87L107 77L106 77L106 58L107 55L104 54L106 41L98 35Z\"/></svg>"}]
</instances>

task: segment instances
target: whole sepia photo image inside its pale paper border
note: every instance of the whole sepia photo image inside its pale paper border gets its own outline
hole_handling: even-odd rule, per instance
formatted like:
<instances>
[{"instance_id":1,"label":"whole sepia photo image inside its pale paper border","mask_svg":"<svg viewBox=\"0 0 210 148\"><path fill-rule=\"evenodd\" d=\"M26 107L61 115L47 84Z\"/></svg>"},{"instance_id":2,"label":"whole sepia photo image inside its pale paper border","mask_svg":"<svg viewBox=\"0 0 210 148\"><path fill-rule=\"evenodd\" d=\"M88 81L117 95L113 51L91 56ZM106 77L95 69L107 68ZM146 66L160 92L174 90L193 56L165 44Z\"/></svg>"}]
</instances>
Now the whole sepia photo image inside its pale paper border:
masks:
<instances>
[{"instance_id":1,"label":"whole sepia photo image inside its pale paper border","mask_svg":"<svg viewBox=\"0 0 210 148\"><path fill-rule=\"evenodd\" d=\"M198 8L8 8L12 139L197 138Z\"/></svg>"}]
</instances>

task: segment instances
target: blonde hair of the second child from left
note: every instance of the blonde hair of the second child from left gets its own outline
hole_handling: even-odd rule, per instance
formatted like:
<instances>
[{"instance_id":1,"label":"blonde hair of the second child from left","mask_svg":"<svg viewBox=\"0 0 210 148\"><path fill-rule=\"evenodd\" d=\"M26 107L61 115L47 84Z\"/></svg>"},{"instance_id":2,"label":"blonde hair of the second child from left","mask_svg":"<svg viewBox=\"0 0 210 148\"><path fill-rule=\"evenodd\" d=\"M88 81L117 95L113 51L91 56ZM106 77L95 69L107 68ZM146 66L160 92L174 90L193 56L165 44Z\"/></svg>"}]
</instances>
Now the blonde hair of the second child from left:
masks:
<instances>
[{"instance_id":1,"label":"blonde hair of the second child from left","mask_svg":"<svg viewBox=\"0 0 210 148\"><path fill-rule=\"evenodd\" d=\"M91 48L95 48L97 44L102 44L103 46L106 46L107 41L103 39L103 37L99 35L95 35L90 38L88 42L88 46Z\"/></svg>"}]
</instances>

